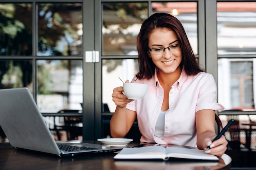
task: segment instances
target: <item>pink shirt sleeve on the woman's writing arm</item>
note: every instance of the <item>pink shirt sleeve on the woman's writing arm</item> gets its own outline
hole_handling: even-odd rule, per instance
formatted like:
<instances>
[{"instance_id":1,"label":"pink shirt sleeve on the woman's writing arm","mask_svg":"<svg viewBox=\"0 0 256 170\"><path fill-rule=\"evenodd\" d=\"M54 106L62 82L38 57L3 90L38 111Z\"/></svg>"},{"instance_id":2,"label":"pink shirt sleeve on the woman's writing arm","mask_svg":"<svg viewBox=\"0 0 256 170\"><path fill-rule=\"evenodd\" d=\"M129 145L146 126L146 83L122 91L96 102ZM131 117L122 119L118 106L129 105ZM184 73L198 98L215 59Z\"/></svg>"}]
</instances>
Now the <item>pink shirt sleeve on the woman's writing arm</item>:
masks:
<instances>
[{"instance_id":1,"label":"pink shirt sleeve on the woman's writing arm","mask_svg":"<svg viewBox=\"0 0 256 170\"><path fill-rule=\"evenodd\" d=\"M224 106L217 103L217 86L211 74L202 78L198 93L196 112L203 109L223 110Z\"/></svg>"}]
</instances>

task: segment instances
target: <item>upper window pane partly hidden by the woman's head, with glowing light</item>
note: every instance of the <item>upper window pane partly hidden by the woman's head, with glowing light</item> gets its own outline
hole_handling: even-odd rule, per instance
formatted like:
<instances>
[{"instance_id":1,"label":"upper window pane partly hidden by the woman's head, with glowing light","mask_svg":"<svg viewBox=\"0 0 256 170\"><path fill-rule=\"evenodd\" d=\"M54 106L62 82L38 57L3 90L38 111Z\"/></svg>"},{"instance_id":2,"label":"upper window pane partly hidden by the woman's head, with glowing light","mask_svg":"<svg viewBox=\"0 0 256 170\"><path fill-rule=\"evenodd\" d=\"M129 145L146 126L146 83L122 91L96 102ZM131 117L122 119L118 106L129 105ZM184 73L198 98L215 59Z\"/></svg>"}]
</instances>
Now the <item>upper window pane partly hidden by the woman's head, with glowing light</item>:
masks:
<instances>
[{"instance_id":1,"label":"upper window pane partly hidden by the woman's head, with glowing light","mask_svg":"<svg viewBox=\"0 0 256 170\"><path fill-rule=\"evenodd\" d=\"M152 12L166 12L174 15L186 31L193 52L198 54L197 2L153 2Z\"/></svg>"}]
</instances>

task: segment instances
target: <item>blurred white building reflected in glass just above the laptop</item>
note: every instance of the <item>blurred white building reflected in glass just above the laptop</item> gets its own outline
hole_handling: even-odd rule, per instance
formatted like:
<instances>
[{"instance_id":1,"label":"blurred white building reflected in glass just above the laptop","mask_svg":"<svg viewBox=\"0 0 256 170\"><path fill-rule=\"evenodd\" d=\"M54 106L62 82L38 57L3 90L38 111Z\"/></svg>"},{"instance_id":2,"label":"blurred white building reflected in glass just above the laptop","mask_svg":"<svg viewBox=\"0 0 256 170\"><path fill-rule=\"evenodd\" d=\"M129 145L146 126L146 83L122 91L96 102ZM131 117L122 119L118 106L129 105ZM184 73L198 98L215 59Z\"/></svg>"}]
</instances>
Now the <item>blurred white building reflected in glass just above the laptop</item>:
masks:
<instances>
[{"instance_id":1,"label":"blurred white building reflected in glass just above the laptop","mask_svg":"<svg viewBox=\"0 0 256 170\"><path fill-rule=\"evenodd\" d=\"M58 62L56 62L58 63ZM80 60L70 61L68 68L50 70L51 94L38 95L37 104L41 112L58 112L62 109L81 110L83 103L83 71Z\"/></svg>"}]
</instances>

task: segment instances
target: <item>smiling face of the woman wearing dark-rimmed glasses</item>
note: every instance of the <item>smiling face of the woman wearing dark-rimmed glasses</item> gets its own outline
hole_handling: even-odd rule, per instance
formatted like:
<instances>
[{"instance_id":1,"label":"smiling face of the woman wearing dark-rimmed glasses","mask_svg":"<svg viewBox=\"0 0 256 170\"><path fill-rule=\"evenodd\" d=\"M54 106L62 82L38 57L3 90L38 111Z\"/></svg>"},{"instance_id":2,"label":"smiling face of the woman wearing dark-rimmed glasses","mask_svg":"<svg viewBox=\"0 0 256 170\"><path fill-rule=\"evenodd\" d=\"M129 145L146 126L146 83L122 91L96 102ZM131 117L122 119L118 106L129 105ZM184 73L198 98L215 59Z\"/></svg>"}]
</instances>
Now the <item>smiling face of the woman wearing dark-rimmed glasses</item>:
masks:
<instances>
[{"instance_id":1,"label":"smiling face of the woman wearing dark-rimmed glasses","mask_svg":"<svg viewBox=\"0 0 256 170\"><path fill-rule=\"evenodd\" d=\"M180 41L174 31L168 28L157 28L150 33L148 38L149 57L152 58L154 64L164 73L180 73L180 63L182 62L182 51L180 50ZM171 47L169 47L171 46ZM164 49L154 49L161 47L169 47ZM162 51L162 52L161 52ZM171 52L172 51L172 52Z\"/></svg>"}]
</instances>

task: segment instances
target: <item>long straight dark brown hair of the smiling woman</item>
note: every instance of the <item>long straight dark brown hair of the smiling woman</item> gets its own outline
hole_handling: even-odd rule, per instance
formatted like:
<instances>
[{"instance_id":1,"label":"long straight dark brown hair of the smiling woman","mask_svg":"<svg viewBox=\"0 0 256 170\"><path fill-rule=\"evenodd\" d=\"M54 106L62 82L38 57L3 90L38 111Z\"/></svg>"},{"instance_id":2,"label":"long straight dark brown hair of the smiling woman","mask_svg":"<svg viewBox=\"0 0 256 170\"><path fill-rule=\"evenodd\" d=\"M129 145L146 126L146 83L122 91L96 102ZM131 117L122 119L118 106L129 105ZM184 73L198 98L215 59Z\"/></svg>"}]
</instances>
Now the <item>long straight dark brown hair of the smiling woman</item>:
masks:
<instances>
[{"instance_id":1,"label":"long straight dark brown hair of the smiling woman","mask_svg":"<svg viewBox=\"0 0 256 170\"><path fill-rule=\"evenodd\" d=\"M180 63L180 68L184 68L187 75L197 75L200 71L203 71L195 58L181 22L168 13L155 13L142 23L139 35L137 36L137 50L139 57L138 73L136 74L136 77L138 79L150 79L155 73L156 66L148 56L148 37L156 28L168 28L176 33L182 46L181 50L183 58Z\"/></svg>"}]
</instances>

